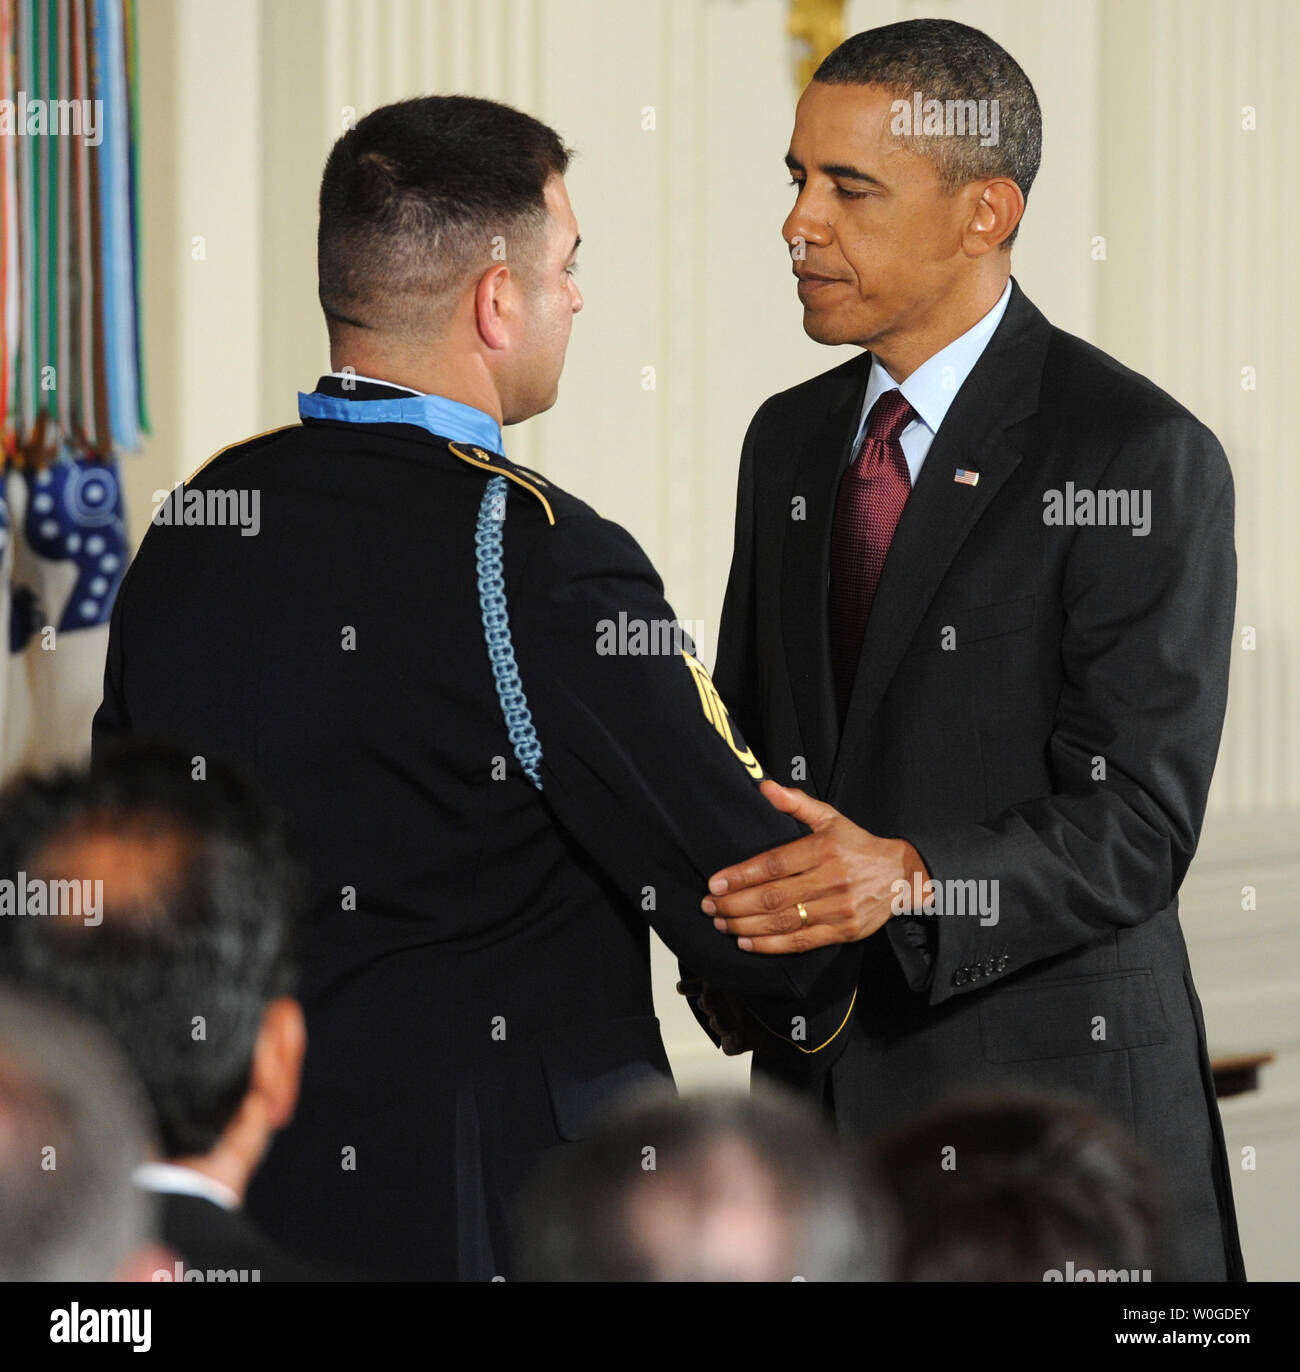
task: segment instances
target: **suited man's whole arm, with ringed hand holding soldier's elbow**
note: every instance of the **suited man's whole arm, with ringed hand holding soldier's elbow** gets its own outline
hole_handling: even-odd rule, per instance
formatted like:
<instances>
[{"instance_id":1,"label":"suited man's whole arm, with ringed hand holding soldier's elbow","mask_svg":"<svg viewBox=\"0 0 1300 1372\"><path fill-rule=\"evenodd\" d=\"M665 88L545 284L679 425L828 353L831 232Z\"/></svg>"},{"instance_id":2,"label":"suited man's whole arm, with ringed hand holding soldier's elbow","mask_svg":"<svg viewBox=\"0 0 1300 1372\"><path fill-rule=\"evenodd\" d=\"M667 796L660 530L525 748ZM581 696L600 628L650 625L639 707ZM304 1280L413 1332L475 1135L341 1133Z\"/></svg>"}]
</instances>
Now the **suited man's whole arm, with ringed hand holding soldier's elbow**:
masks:
<instances>
[{"instance_id":1,"label":"suited man's whole arm, with ringed hand holding soldier's elbow","mask_svg":"<svg viewBox=\"0 0 1300 1372\"><path fill-rule=\"evenodd\" d=\"M1196 849L1223 724L1231 476L1207 429L1166 417L1135 429L1101 480L1151 491L1157 517L1141 536L1127 527L1070 531L1061 683L1042 792L989 816L912 825L911 852L904 840L797 799L782 808L813 834L716 873L727 889L710 884L717 893L706 912L761 952L886 926L908 985L938 1004L1168 907ZM991 907L985 912L980 897L978 919L889 925L916 875L935 888L987 889ZM891 889L901 896L893 908ZM928 947L906 947L908 933L924 933Z\"/></svg>"}]
</instances>

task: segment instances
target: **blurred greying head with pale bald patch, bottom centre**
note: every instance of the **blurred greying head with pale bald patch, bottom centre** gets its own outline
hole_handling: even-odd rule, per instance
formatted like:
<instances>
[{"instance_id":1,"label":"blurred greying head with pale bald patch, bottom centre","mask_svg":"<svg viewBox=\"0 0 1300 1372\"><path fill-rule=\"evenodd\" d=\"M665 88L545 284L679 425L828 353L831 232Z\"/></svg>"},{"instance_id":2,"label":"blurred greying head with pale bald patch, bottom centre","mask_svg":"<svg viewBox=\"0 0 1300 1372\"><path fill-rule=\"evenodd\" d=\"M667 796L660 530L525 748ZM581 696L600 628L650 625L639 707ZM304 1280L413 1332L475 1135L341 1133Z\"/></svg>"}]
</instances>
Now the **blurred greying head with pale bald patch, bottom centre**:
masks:
<instances>
[{"instance_id":1,"label":"blurred greying head with pale bald patch, bottom centre","mask_svg":"<svg viewBox=\"0 0 1300 1372\"><path fill-rule=\"evenodd\" d=\"M528 1257L551 1281L863 1281L883 1276L884 1231L797 1102L657 1095L561 1150Z\"/></svg>"}]
</instances>

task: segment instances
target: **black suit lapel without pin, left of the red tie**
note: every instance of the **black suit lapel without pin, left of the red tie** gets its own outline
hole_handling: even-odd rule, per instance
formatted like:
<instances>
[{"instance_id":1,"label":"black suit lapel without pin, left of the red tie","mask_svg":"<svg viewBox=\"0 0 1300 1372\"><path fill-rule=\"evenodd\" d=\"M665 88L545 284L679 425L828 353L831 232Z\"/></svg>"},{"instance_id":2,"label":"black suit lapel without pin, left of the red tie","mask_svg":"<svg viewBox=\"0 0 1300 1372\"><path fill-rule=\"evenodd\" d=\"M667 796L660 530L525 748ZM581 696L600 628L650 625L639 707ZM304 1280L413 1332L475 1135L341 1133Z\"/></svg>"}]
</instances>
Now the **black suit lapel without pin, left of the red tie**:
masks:
<instances>
[{"instance_id":1,"label":"black suit lapel without pin, left of the red tie","mask_svg":"<svg viewBox=\"0 0 1300 1372\"><path fill-rule=\"evenodd\" d=\"M809 782L826 794L838 742L835 689L831 678L831 639L826 617L826 586L831 556L831 525L839 477L850 461L850 446L871 375L871 354L861 365L845 368L838 391L823 414L812 421L799 451L791 497L805 499L804 519L780 512L782 638L786 671Z\"/></svg>"}]
</instances>

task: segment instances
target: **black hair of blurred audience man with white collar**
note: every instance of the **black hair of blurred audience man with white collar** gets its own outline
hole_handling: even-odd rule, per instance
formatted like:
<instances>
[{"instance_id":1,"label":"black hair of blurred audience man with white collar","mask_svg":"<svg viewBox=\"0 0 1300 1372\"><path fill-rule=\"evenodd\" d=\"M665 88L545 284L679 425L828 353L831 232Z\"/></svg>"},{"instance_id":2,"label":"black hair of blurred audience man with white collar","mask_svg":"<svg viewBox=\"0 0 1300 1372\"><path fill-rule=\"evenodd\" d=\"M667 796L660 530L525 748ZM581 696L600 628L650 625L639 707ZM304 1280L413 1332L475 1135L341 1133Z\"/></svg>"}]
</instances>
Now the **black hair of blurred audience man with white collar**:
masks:
<instances>
[{"instance_id":1,"label":"black hair of blurred audience man with white collar","mask_svg":"<svg viewBox=\"0 0 1300 1372\"><path fill-rule=\"evenodd\" d=\"M0 796L0 877L86 878L59 867L86 841L158 845L129 895L104 882L101 922L0 919L7 974L100 1024L158 1117L166 1157L211 1151L248 1092L267 1004L293 988L299 873L284 823L240 774L128 746L85 772ZM143 888L143 893L141 893ZM203 1034L195 1034L195 1017Z\"/></svg>"}]
</instances>

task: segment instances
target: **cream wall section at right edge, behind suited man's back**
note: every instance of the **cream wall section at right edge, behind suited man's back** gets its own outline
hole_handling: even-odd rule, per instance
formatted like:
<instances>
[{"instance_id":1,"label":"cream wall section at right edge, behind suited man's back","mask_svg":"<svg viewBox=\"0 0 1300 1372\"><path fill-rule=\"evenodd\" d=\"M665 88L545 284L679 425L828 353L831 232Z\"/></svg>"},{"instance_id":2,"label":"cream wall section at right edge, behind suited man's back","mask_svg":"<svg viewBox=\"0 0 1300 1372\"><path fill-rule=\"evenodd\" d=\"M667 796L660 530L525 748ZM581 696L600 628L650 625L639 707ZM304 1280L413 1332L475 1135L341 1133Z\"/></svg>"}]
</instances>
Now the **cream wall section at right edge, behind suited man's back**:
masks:
<instances>
[{"instance_id":1,"label":"cream wall section at right edge, behind suited man's back","mask_svg":"<svg viewBox=\"0 0 1300 1372\"><path fill-rule=\"evenodd\" d=\"M1096 342L1219 436L1237 490L1238 639L1227 723L1182 923L1214 1052L1270 1050L1223 1104L1256 1277L1300 1275L1300 303L1292 246L1300 7L1103 8L1108 174L1090 232ZM1242 128L1247 107L1256 129ZM1245 369L1252 369L1247 372ZM1252 375L1253 373L1253 375ZM1245 646L1248 631L1255 646ZM1253 901L1253 910L1244 904ZM1244 1166L1255 1150L1255 1169Z\"/></svg>"}]
</instances>

